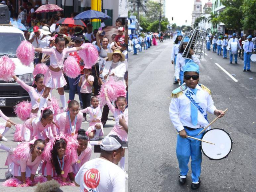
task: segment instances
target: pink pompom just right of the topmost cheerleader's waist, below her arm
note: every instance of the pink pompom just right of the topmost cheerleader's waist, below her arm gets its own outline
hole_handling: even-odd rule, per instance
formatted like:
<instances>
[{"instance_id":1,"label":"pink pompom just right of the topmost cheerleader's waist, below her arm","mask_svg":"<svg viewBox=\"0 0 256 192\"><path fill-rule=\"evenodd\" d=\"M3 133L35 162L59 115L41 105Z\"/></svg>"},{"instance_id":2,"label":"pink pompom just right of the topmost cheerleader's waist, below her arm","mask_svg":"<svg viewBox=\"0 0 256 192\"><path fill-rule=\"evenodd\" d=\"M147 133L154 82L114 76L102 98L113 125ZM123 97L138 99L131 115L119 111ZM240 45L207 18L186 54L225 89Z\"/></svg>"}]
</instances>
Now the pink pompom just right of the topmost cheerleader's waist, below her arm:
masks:
<instances>
[{"instance_id":1,"label":"pink pompom just right of the topmost cheerleader's waist, below her arm","mask_svg":"<svg viewBox=\"0 0 256 192\"><path fill-rule=\"evenodd\" d=\"M77 59L73 56L68 56L64 62L63 71L70 78L76 78L80 74L80 67L77 64Z\"/></svg>"}]
</instances>

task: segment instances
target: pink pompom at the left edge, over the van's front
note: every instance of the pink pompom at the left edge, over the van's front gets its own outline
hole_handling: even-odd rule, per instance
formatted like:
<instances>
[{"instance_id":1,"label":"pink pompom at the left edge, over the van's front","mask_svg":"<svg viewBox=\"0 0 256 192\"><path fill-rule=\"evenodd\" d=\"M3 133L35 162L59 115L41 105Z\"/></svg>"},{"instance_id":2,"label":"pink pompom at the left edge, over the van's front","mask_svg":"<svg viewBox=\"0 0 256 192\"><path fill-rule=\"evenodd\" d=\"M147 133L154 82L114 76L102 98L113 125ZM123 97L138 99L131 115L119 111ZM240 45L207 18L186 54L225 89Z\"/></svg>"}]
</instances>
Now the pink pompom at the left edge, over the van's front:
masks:
<instances>
[{"instance_id":1,"label":"pink pompom at the left edge, over the van's front","mask_svg":"<svg viewBox=\"0 0 256 192\"><path fill-rule=\"evenodd\" d=\"M11 81L12 76L15 74L15 63L9 57L2 56L0 58L0 79L4 81Z\"/></svg>"}]
</instances>

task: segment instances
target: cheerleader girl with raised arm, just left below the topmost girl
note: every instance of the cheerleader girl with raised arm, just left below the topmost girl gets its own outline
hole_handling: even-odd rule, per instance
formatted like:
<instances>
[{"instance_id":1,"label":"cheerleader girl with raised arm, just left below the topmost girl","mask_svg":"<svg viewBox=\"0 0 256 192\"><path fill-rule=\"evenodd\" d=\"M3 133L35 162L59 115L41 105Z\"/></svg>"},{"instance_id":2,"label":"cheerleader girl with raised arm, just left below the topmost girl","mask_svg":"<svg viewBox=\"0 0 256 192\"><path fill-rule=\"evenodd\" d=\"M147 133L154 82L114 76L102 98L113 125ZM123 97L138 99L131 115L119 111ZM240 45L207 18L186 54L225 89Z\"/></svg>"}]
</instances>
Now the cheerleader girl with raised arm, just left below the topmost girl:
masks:
<instances>
[{"instance_id":1,"label":"cheerleader girl with raised arm, just left below the topmost girl","mask_svg":"<svg viewBox=\"0 0 256 192\"><path fill-rule=\"evenodd\" d=\"M28 92L28 94L30 96L32 110L31 110L29 118L36 117L37 112L38 112L38 108L39 108L39 103L40 103L40 100L42 99L42 95L43 95L43 92L44 92L44 84L43 84L44 75L39 73L34 77L35 87L27 85L25 82L23 82L16 75L13 76L13 79L17 83L19 83L22 86L22 88L25 89ZM46 98L46 100L48 101L48 103L44 104L44 106L43 106L44 108L47 107L47 105L51 104L51 102L50 102L51 93Z\"/></svg>"}]
</instances>

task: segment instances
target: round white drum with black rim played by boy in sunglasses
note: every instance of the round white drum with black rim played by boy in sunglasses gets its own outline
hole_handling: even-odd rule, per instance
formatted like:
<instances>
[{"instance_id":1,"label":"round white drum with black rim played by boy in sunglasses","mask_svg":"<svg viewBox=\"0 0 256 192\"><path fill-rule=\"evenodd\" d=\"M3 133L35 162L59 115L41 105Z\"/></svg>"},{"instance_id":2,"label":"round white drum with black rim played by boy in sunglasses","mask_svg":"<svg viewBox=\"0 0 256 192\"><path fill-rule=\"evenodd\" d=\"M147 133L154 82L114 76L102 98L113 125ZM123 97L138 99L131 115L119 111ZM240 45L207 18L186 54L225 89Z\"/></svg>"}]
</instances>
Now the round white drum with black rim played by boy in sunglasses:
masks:
<instances>
[{"instance_id":1,"label":"round white drum with black rim played by boy in sunglasses","mask_svg":"<svg viewBox=\"0 0 256 192\"><path fill-rule=\"evenodd\" d=\"M202 139L215 144L201 142L201 150L210 160L221 160L228 157L232 149L232 139L226 131L211 129L204 134Z\"/></svg>"}]
</instances>

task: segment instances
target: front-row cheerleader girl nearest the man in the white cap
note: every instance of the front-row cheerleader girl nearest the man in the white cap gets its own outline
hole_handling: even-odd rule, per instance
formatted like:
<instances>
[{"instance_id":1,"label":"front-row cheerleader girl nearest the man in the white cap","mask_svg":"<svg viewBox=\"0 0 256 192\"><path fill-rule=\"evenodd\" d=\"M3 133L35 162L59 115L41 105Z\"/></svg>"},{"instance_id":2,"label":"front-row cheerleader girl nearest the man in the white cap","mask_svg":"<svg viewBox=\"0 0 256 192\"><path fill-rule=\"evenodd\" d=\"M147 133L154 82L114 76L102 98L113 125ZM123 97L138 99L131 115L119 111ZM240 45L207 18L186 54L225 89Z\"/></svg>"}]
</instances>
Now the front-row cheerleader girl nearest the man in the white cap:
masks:
<instances>
[{"instance_id":1,"label":"front-row cheerleader girl nearest the man in the white cap","mask_svg":"<svg viewBox=\"0 0 256 192\"><path fill-rule=\"evenodd\" d=\"M72 164L69 171L74 174L77 174L80 167L91 158L91 145L84 129L78 130L77 141L79 144L77 148L78 160L76 163Z\"/></svg>"}]
</instances>

